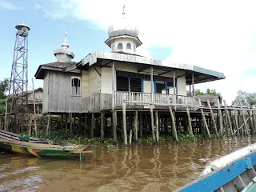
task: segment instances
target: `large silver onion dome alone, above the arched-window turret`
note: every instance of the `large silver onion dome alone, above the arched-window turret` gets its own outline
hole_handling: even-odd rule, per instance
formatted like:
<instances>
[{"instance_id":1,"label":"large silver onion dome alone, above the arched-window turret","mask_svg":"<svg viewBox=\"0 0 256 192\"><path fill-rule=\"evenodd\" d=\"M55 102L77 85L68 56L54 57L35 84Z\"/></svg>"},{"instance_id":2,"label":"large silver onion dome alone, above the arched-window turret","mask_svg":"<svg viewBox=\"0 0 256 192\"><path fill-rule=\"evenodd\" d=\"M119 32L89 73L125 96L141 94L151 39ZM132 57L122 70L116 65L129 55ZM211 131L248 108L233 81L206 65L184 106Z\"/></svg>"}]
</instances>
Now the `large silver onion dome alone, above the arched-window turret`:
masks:
<instances>
[{"instance_id":1,"label":"large silver onion dome alone, above the arched-window turret","mask_svg":"<svg viewBox=\"0 0 256 192\"><path fill-rule=\"evenodd\" d=\"M138 37L138 27L132 24L128 19L121 18L109 27L109 37L120 35L130 35L134 38Z\"/></svg>"}]
</instances>

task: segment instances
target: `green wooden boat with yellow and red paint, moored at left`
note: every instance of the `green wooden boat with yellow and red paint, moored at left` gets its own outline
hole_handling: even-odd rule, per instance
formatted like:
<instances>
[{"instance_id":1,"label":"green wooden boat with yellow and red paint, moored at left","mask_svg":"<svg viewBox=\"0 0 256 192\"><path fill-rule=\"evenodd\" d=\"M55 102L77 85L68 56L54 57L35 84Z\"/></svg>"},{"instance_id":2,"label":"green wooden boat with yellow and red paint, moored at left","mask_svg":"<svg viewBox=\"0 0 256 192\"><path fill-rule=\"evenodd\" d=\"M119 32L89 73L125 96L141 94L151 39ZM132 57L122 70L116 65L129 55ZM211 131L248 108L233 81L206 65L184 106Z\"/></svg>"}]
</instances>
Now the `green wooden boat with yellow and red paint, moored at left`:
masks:
<instances>
[{"instance_id":1,"label":"green wooden boat with yellow and red paint, moored at left","mask_svg":"<svg viewBox=\"0 0 256 192\"><path fill-rule=\"evenodd\" d=\"M24 141L22 135L0 130L0 149L14 154L32 155L37 158L65 158L81 159L87 151L88 145L78 146L67 142L55 142L41 138L29 137ZM23 140L23 141L21 141ZM25 139L26 140L26 139Z\"/></svg>"}]
</instances>

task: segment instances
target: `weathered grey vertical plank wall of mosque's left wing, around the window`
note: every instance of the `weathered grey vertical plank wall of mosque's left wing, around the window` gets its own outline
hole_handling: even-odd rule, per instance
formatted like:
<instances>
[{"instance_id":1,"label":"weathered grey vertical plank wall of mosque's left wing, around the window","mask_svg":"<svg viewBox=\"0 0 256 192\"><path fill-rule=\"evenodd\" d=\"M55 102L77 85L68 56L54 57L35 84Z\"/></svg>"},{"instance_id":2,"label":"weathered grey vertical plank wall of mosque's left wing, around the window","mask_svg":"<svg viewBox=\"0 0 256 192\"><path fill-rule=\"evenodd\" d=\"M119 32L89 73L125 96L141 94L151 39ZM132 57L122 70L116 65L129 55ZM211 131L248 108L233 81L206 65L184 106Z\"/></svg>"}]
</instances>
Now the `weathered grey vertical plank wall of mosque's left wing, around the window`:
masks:
<instances>
[{"instance_id":1,"label":"weathered grey vertical plank wall of mosque's left wing, around the window","mask_svg":"<svg viewBox=\"0 0 256 192\"><path fill-rule=\"evenodd\" d=\"M100 110L111 109L112 94L70 96L70 79L80 75L50 71L49 77L48 108L44 107L44 113L99 113ZM43 106L46 105L43 103Z\"/></svg>"}]
</instances>

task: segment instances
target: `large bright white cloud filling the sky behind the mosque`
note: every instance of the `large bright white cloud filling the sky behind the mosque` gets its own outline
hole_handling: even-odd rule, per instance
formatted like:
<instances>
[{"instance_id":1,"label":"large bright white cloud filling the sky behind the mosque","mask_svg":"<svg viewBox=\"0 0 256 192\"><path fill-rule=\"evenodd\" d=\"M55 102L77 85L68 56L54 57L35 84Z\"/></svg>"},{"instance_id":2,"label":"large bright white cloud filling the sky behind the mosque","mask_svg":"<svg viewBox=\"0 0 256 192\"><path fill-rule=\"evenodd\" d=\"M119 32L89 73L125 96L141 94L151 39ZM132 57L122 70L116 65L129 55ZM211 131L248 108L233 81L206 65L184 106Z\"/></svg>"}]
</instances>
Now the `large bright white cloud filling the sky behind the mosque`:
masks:
<instances>
[{"instance_id":1,"label":"large bright white cloud filling the sky behind the mosque","mask_svg":"<svg viewBox=\"0 0 256 192\"><path fill-rule=\"evenodd\" d=\"M121 17L120 0L52 0L40 8L53 18L88 20L100 30ZM254 1L159 0L126 1L126 15L138 23L143 45L138 54L150 57L152 45L172 46L171 60L217 70L226 80L196 88L221 92L231 102L238 90L253 91L243 70L255 66L256 12ZM58 5L58 6L54 6ZM252 51L254 50L254 51Z\"/></svg>"}]
</instances>

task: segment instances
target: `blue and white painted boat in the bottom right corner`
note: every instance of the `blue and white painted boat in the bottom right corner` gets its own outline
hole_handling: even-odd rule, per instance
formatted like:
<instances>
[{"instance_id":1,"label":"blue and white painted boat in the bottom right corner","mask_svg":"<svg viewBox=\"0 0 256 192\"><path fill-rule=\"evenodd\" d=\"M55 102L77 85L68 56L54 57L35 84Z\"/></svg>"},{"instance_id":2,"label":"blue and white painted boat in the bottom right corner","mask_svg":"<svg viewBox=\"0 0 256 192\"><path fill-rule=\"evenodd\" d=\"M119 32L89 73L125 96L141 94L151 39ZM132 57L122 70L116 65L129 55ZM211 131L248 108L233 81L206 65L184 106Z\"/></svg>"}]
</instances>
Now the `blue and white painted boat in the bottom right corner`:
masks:
<instances>
[{"instance_id":1,"label":"blue and white painted boat in the bottom right corner","mask_svg":"<svg viewBox=\"0 0 256 192\"><path fill-rule=\"evenodd\" d=\"M200 178L175 191L256 191L256 143L226 154L206 166Z\"/></svg>"}]
</instances>

